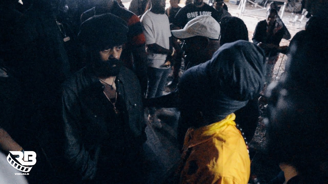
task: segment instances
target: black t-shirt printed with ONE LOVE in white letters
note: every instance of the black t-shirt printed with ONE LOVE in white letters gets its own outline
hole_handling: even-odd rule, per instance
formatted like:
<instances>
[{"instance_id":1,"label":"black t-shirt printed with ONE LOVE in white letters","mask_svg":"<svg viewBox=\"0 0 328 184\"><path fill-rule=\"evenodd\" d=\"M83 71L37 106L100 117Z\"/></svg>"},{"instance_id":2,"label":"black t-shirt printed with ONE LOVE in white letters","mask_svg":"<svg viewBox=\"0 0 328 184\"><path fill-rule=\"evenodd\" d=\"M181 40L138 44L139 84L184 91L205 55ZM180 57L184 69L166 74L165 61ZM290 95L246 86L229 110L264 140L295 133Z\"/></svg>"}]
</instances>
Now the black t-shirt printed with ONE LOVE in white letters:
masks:
<instances>
[{"instance_id":1,"label":"black t-shirt printed with ONE LOVE in white letters","mask_svg":"<svg viewBox=\"0 0 328 184\"><path fill-rule=\"evenodd\" d=\"M179 27L184 27L190 20L199 15L211 15L217 22L219 22L219 13L208 4L197 8L194 4L188 4L181 8L175 15L173 24Z\"/></svg>"}]
</instances>

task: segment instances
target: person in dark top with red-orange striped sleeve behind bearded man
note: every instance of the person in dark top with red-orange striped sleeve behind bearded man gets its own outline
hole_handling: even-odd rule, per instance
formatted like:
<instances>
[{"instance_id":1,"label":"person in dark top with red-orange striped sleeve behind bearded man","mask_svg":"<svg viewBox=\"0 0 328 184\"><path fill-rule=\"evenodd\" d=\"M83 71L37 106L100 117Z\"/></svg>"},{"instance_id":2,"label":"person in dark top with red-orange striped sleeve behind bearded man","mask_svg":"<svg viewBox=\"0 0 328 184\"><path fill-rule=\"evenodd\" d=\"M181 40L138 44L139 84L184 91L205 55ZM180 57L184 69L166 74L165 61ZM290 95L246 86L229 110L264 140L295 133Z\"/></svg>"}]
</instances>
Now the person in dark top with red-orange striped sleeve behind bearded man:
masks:
<instances>
[{"instance_id":1,"label":"person in dark top with red-orange striped sleeve behind bearded man","mask_svg":"<svg viewBox=\"0 0 328 184\"><path fill-rule=\"evenodd\" d=\"M92 0L95 7L82 13L81 23L94 15L112 13L122 18L128 24L128 41L123 45L121 60L127 68L133 70L137 75L143 93L147 90L147 65L145 51L145 35L143 27L137 17L131 11L123 8L114 0ZM110 31L110 30L109 30Z\"/></svg>"}]
</instances>

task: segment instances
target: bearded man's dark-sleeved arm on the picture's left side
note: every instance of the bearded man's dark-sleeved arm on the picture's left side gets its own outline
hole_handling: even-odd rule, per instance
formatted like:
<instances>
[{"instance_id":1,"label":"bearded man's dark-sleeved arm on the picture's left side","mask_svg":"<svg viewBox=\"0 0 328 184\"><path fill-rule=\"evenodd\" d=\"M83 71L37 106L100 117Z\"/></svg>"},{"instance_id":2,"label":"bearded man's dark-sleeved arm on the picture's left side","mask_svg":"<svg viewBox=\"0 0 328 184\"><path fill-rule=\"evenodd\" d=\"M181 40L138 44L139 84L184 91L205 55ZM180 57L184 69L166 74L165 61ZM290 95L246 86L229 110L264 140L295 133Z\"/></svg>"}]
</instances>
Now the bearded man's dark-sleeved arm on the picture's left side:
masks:
<instances>
[{"instance_id":1,"label":"bearded man's dark-sleeved arm on the picture's left side","mask_svg":"<svg viewBox=\"0 0 328 184\"><path fill-rule=\"evenodd\" d=\"M65 126L65 157L73 172L80 175L82 180L92 179L96 174L97 162L91 158L84 144L81 143L80 129L78 128L81 112L76 94L70 90L65 90L62 95L62 102L62 116Z\"/></svg>"}]
</instances>

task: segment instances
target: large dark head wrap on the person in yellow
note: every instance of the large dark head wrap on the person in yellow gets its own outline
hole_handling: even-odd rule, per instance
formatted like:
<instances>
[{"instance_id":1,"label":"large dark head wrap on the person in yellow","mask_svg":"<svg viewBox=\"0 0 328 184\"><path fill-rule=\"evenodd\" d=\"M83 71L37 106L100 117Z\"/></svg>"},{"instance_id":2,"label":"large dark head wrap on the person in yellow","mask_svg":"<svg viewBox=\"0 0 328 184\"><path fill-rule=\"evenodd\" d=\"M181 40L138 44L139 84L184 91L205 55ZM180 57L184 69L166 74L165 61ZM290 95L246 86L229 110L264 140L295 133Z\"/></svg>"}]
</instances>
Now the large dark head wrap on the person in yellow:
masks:
<instances>
[{"instance_id":1,"label":"large dark head wrap on the person in yellow","mask_svg":"<svg viewBox=\"0 0 328 184\"><path fill-rule=\"evenodd\" d=\"M208 123L222 120L259 94L264 66L264 53L253 43L240 40L221 46L210 61L181 76L181 108L202 111Z\"/></svg>"}]
</instances>

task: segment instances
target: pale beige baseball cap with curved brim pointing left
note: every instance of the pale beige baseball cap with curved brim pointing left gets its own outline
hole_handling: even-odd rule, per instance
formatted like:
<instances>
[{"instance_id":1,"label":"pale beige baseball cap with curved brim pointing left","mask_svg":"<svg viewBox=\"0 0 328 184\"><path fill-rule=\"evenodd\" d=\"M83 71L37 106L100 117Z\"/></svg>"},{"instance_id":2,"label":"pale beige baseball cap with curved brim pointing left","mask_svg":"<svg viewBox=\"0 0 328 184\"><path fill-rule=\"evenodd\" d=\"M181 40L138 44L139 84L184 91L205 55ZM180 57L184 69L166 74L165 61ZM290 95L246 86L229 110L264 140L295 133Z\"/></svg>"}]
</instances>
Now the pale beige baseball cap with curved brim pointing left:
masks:
<instances>
[{"instance_id":1,"label":"pale beige baseball cap with curved brim pointing left","mask_svg":"<svg viewBox=\"0 0 328 184\"><path fill-rule=\"evenodd\" d=\"M183 29L172 30L172 35L178 39L193 36L204 36L210 39L219 39L220 25L210 15L200 15L189 21Z\"/></svg>"}]
</instances>

